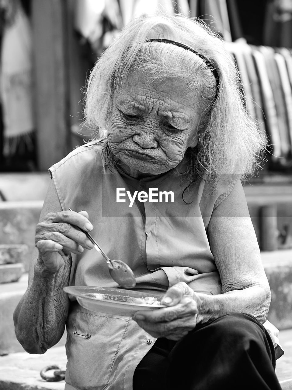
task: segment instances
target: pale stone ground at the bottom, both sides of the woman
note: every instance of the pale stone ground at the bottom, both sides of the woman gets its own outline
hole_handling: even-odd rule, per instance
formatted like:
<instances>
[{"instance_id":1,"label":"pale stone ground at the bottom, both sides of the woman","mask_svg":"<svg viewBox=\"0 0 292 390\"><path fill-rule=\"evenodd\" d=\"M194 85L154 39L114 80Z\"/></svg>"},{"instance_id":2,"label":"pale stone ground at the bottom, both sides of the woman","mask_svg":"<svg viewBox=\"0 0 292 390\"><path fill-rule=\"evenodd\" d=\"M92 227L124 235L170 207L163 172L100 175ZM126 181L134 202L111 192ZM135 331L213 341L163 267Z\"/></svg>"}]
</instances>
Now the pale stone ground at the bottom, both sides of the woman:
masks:
<instances>
[{"instance_id":1,"label":"pale stone ground at the bottom, both sides of the woman","mask_svg":"<svg viewBox=\"0 0 292 390\"><path fill-rule=\"evenodd\" d=\"M280 332L280 342L285 354L277 360L276 374L283 390L292 390L292 329ZM64 390L64 381L46 382L40 377L40 371L51 365L59 365L64 370L66 363L64 346L53 347L44 355L17 352L0 356L0 389Z\"/></svg>"}]
</instances>

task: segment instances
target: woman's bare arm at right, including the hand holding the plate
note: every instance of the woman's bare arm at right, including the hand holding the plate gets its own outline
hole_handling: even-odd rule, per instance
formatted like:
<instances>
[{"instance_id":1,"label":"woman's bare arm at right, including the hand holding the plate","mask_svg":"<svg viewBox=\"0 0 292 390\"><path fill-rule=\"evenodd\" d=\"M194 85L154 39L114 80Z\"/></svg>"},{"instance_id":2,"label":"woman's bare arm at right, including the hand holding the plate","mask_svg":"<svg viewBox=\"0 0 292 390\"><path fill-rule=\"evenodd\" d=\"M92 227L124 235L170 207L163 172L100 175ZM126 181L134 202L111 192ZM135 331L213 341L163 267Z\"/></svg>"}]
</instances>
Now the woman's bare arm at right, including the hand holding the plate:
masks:
<instances>
[{"instance_id":1,"label":"woman's bare arm at right, including the hand holding the plate","mask_svg":"<svg viewBox=\"0 0 292 390\"><path fill-rule=\"evenodd\" d=\"M241 183L214 210L208 235L222 294L195 293L184 282L172 286L162 300L167 308L134 316L154 337L179 340L197 323L230 313L252 314L260 322L266 321L270 289Z\"/></svg>"}]
</instances>

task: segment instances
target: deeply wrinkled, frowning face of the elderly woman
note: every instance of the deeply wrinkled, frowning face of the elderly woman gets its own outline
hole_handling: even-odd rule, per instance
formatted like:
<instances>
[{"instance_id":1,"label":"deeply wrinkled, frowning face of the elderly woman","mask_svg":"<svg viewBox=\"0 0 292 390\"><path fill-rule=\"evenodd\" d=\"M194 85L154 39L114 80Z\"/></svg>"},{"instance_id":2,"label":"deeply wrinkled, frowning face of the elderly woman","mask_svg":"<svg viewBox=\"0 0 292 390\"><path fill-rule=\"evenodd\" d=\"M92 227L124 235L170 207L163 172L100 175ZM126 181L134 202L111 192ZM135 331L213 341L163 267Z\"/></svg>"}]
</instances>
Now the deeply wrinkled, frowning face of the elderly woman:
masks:
<instances>
[{"instance_id":1,"label":"deeply wrinkled, frowning face of the elderly woman","mask_svg":"<svg viewBox=\"0 0 292 390\"><path fill-rule=\"evenodd\" d=\"M108 143L133 177L175 168L197 144L199 99L179 78L149 82L130 74L114 99Z\"/></svg>"}]
</instances>

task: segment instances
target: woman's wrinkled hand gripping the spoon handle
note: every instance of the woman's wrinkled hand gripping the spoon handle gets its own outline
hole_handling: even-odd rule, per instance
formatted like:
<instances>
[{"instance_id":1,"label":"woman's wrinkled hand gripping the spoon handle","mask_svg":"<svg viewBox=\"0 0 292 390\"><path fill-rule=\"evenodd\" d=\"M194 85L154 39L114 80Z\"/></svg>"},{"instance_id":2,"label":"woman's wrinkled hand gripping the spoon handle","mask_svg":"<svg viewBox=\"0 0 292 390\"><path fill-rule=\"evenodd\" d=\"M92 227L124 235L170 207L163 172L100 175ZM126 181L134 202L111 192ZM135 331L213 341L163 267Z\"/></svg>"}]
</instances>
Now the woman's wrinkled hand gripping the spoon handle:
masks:
<instances>
[{"instance_id":1,"label":"woman's wrinkled hand gripping the spoon handle","mask_svg":"<svg viewBox=\"0 0 292 390\"><path fill-rule=\"evenodd\" d=\"M60 211L48 213L43 222L37 224L35 246L39 250L38 265L46 271L56 273L71 252L81 254L92 249L93 244L86 234L93 229L86 211Z\"/></svg>"}]
</instances>

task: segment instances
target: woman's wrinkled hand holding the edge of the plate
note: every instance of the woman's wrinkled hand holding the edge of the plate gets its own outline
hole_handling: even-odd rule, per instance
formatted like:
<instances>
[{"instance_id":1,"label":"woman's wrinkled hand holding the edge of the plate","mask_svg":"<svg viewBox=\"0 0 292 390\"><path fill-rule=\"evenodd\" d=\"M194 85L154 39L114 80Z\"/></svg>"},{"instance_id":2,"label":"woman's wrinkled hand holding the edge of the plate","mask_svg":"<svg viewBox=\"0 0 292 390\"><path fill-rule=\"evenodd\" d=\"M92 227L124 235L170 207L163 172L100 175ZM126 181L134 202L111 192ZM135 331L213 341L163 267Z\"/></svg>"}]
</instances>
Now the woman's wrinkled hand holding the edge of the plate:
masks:
<instances>
[{"instance_id":1,"label":"woman's wrinkled hand holding the edge of the plate","mask_svg":"<svg viewBox=\"0 0 292 390\"><path fill-rule=\"evenodd\" d=\"M171 340L179 340L195 328L201 300L185 282L170 287L161 303L167 307L139 310L134 321L153 337Z\"/></svg>"}]
</instances>

